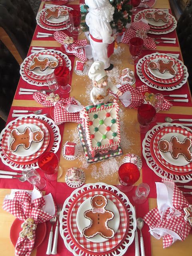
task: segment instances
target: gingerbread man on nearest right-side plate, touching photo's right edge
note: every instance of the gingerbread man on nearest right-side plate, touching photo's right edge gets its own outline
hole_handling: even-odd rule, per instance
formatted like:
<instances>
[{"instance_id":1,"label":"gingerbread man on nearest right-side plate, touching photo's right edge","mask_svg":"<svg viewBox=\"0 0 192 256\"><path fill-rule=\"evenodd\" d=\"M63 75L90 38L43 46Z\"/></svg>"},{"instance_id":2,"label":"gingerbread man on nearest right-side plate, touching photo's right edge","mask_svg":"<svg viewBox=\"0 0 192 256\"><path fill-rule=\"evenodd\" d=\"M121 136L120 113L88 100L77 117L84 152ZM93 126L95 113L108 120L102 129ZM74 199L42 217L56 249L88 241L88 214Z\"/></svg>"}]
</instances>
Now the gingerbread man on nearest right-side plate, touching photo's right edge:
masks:
<instances>
[{"instance_id":1,"label":"gingerbread man on nearest right-side plate, touching photo's right edge","mask_svg":"<svg viewBox=\"0 0 192 256\"><path fill-rule=\"evenodd\" d=\"M176 136L172 136L170 142L164 139L158 142L160 151L171 152L171 156L174 159L178 159L179 155L182 154L188 162L192 162L191 145L192 140L190 138L185 138L184 142L180 142Z\"/></svg>"}]
</instances>

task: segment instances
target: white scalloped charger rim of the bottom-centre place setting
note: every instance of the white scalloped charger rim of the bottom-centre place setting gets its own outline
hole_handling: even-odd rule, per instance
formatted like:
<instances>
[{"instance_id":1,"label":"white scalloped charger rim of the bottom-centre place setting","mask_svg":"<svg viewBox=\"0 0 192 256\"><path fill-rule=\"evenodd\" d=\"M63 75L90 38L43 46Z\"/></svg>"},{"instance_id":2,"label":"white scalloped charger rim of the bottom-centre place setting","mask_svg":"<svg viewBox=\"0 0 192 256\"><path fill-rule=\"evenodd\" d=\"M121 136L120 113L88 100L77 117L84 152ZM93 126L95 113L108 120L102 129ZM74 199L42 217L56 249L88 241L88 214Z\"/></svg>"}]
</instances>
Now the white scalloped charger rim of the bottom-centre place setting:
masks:
<instances>
[{"instance_id":1,"label":"white scalloped charger rim of the bottom-centre place setting","mask_svg":"<svg viewBox=\"0 0 192 256\"><path fill-rule=\"evenodd\" d=\"M102 182L85 184L81 188L77 188L76 190L74 190L74 192L72 192L72 194L65 200L63 209L60 213L60 218L59 218L60 219L60 234L64 240L64 244L65 244L66 248L70 252L72 252L72 254L74 254L74 256L94 256L95 255L94 252L93 252L93 254L87 254L84 251L80 250L74 244L74 242L72 242L70 235L68 233L68 229L67 229L67 214L68 214L70 205L72 204L73 200L77 196L79 196L82 192L91 190L94 188L101 188L101 189L106 189L106 190L114 192L117 196L119 196L123 200L123 202L128 210L130 224L129 224L129 231L128 231L128 234L127 234L124 242L121 244L121 246L119 246L119 248L117 248L113 252L111 252L111 253L103 252L103 254L102 253L100 254L100 255L104 255L104 256L114 256L114 255L122 256L126 253L128 247L132 244L132 242L134 240L134 234L135 234L135 230L136 230L135 211L134 211L134 208L133 208L132 204L130 203L128 197L123 192L121 192L115 186L108 185L108 184L105 184Z\"/></svg>"}]
</instances>

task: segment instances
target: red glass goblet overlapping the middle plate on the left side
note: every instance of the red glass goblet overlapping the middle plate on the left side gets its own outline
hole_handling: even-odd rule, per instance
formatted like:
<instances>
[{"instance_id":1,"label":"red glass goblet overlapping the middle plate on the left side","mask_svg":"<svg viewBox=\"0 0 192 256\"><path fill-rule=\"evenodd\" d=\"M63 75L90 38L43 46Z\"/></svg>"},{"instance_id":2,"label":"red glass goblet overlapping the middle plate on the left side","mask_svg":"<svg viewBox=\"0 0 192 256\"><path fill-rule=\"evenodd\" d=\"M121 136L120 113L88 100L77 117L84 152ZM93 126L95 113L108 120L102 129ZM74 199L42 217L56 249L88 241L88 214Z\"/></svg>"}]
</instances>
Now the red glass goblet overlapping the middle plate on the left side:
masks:
<instances>
[{"instance_id":1,"label":"red glass goblet overlapping the middle plate on the left side","mask_svg":"<svg viewBox=\"0 0 192 256\"><path fill-rule=\"evenodd\" d=\"M70 70L66 66L59 66L54 69L54 74L57 78L59 93L68 94L71 91L71 86L68 84L70 80Z\"/></svg>"}]
</instances>

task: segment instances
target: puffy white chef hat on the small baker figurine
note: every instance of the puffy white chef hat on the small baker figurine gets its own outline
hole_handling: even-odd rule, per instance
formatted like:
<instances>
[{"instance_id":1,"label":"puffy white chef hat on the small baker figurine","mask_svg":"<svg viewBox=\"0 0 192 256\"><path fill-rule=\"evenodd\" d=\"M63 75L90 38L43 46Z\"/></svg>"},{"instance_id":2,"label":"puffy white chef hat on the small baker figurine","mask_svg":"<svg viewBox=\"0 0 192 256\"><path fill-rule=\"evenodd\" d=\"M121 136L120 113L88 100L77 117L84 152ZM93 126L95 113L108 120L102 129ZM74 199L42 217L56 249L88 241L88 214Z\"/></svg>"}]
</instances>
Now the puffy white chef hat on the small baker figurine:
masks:
<instances>
[{"instance_id":1,"label":"puffy white chef hat on the small baker figurine","mask_svg":"<svg viewBox=\"0 0 192 256\"><path fill-rule=\"evenodd\" d=\"M90 67L88 72L88 76L92 81L99 81L101 78L106 76L106 72L104 70L104 63L102 61L95 61Z\"/></svg>"}]
</instances>

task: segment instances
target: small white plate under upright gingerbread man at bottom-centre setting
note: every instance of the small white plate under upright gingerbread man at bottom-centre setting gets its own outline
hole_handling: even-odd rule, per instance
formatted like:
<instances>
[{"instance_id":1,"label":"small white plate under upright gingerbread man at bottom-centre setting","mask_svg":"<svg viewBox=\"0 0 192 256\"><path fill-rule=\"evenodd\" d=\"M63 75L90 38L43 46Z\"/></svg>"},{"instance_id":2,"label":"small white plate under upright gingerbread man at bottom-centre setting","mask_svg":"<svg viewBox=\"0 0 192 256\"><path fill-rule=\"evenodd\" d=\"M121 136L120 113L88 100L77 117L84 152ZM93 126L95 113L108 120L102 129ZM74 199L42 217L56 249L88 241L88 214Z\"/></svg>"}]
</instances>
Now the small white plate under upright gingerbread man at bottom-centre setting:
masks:
<instances>
[{"instance_id":1,"label":"small white plate under upright gingerbread man at bottom-centre setting","mask_svg":"<svg viewBox=\"0 0 192 256\"><path fill-rule=\"evenodd\" d=\"M86 210L90 210L90 209L92 209L91 198L88 198L87 200L85 200L78 209L77 216L76 216L76 222L77 222L78 230L81 234L82 234L83 229L88 227L91 223L91 221L89 219L84 217L84 212L86 212ZM109 220L107 224L116 233L119 228L119 224L120 224L120 214L119 214L118 208L114 204L114 202L107 199L107 205L106 205L105 209L110 210L111 212L114 213L114 218L112 220ZM102 242L106 242L109 240L107 238L103 238L99 234L97 234L96 236L94 236L92 238L86 238L86 239L91 242L95 242L95 243L102 243Z\"/></svg>"}]
</instances>

